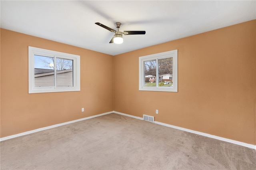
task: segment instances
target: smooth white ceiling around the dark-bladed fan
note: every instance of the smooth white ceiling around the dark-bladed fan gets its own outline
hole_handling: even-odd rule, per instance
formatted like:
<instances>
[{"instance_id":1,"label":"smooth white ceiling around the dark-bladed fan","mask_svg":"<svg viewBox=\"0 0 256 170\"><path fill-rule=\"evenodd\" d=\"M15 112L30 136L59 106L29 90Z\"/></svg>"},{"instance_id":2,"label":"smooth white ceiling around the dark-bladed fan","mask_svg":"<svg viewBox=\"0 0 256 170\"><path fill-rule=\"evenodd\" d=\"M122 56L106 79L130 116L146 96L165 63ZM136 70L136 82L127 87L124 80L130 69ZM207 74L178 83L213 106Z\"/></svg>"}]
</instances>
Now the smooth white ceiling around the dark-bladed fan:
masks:
<instances>
[{"instance_id":1,"label":"smooth white ceiling around the dark-bladed fan","mask_svg":"<svg viewBox=\"0 0 256 170\"><path fill-rule=\"evenodd\" d=\"M0 27L56 42L117 55L256 19L256 1L4 1ZM124 43L109 43L114 36L96 24L126 35Z\"/></svg>"}]
</instances>

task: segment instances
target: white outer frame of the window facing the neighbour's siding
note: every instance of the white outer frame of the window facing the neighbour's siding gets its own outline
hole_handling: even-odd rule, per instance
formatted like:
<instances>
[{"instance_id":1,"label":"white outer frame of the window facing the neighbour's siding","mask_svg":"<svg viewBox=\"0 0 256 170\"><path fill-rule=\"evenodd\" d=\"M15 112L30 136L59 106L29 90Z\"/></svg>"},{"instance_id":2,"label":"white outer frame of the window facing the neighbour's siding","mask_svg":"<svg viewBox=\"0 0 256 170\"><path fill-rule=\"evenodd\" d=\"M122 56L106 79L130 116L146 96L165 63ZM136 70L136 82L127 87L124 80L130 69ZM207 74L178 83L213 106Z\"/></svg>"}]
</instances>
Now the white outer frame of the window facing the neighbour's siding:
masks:
<instances>
[{"instance_id":1,"label":"white outer frame of the window facing the neighbour's siding","mask_svg":"<svg viewBox=\"0 0 256 170\"><path fill-rule=\"evenodd\" d=\"M60 57L73 60L73 87L35 87L34 55ZM51 93L64 91L80 91L80 55L52 51L28 46L28 93Z\"/></svg>"}]
</instances>

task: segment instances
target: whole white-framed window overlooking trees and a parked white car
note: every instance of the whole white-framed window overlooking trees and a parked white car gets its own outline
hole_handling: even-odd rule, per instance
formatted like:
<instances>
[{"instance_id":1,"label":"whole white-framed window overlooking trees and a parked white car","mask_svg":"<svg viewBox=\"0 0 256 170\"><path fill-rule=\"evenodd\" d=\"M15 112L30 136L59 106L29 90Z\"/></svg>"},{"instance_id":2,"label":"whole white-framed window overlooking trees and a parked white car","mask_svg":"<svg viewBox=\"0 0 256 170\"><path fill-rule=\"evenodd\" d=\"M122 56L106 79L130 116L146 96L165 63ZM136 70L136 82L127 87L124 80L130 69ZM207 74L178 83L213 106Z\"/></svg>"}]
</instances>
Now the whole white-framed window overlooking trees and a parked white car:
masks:
<instances>
[{"instance_id":1,"label":"whole white-framed window overlooking trees and a parked white car","mask_svg":"<svg viewBox=\"0 0 256 170\"><path fill-rule=\"evenodd\" d=\"M178 50L139 57L139 90L178 92Z\"/></svg>"}]
</instances>

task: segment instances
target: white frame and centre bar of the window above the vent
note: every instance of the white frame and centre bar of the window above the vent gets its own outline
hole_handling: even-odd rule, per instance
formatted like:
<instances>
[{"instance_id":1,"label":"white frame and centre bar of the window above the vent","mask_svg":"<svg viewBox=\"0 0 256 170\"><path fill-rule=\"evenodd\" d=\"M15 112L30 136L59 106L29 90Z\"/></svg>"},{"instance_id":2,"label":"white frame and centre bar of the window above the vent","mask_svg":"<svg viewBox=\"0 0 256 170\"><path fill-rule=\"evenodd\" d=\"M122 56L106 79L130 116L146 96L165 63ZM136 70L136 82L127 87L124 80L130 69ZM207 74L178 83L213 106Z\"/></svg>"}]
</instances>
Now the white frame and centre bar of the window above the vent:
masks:
<instances>
[{"instance_id":1,"label":"white frame and centre bar of the window above the vent","mask_svg":"<svg viewBox=\"0 0 256 170\"><path fill-rule=\"evenodd\" d=\"M158 70L156 70L156 86L144 86L144 61L158 60L172 57L172 87L159 87L159 75ZM156 62L158 63L158 62ZM158 68L158 64L156 64ZM166 92L178 92L178 49L172 51L166 51L162 53L156 53L151 55L146 55L139 57L139 90L140 91L166 91Z\"/></svg>"}]
</instances>

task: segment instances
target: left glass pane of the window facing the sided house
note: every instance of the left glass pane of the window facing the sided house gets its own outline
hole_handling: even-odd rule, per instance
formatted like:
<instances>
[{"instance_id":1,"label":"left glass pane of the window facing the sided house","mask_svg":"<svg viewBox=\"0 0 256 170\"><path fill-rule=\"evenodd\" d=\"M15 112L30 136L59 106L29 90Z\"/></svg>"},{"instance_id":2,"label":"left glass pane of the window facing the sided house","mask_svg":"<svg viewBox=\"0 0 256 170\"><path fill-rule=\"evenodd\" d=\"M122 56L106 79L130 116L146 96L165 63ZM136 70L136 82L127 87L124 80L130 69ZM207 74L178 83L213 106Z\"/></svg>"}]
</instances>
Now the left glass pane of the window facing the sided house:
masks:
<instances>
[{"instance_id":1,"label":"left glass pane of the window facing the sided house","mask_svg":"<svg viewBox=\"0 0 256 170\"><path fill-rule=\"evenodd\" d=\"M34 87L54 87L54 58L34 55Z\"/></svg>"}]
</instances>

